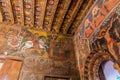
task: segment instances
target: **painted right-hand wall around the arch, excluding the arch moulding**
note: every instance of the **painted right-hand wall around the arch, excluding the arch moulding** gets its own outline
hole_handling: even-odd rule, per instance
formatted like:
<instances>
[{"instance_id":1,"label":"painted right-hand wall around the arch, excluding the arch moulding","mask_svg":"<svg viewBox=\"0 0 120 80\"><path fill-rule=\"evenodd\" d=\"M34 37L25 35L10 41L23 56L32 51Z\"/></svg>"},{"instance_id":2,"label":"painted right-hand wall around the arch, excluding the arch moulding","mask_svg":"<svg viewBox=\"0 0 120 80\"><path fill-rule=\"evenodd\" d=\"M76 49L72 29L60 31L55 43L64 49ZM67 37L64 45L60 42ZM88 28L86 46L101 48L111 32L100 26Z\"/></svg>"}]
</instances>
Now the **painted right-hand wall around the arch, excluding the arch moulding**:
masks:
<instances>
[{"instance_id":1,"label":"painted right-hand wall around the arch, excluding the arch moulding","mask_svg":"<svg viewBox=\"0 0 120 80\"><path fill-rule=\"evenodd\" d=\"M106 1L106 3L104 2L104 5L100 5L100 3L102 4L103 1ZM82 72L85 70L84 61L86 61L89 53L94 51L101 50L103 51L103 53L107 53L109 57L113 58L114 62L116 62L117 65L120 65L120 4L117 0L103 1L98 0L96 2L97 4L94 4L94 6L92 7L93 11L92 9L90 10L91 13L88 13L85 20L81 24L81 32L79 31L79 29L74 36L76 55L80 56L77 57L77 61L81 77L85 75ZM114 4L114 2L117 2L118 4ZM108 4L111 6L108 6ZM88 40L88 43L86 43L87 45L89 45L88 53L85 53L85 50L87 49L85 48L83 51L84 54L81 54L82 52L80 53L80 51L82 50L82 46L80 44L84 42L85 39ZM85 57L82 58L82 56L84 55ZM88 63L86 62L86 65L87 64ZM88 67L88 69L90 68ZM89 74L91 74L91 72Z\"/></svg>"}]
</instances>

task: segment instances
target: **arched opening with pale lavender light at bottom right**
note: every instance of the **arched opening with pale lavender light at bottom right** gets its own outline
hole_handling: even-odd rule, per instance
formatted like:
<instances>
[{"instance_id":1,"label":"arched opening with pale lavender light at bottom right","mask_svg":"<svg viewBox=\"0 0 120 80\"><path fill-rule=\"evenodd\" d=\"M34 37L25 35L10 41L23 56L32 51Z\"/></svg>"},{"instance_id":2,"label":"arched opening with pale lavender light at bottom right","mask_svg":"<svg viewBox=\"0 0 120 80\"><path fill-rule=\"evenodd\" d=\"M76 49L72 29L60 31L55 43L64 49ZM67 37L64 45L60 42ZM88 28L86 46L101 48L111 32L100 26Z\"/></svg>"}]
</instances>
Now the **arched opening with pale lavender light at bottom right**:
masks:
<instances>
[{"instance_id":1,"label":"arched opening with pale lavender light at bottom right","mask_svg":"<svg viewBox=\"0 0 120 80\"><path fill-rule=\"evenodd\" d=\"M118 70L114 68L114 62L104 61L99 67L100 80L120 80Z\"/></svg>"}]
</instances>

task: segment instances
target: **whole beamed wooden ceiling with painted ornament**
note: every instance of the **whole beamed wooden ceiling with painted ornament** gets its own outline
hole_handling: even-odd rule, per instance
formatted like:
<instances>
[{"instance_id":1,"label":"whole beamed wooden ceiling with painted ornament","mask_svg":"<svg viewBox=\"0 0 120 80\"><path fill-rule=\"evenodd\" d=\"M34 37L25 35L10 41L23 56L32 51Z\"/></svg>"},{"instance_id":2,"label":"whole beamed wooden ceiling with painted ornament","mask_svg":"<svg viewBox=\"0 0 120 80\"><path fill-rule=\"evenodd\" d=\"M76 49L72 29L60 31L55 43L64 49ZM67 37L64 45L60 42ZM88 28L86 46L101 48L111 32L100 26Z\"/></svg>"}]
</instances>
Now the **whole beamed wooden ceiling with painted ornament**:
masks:
<instances>
[{"instance_id":1,"label":"whole beamed wooden ceiling with painted ornament","mask_svg":"<svg viewBox=\"0 0 120 80\"><path fill-rule=\"evenodd\" d=\"M2 21L73 35L95 0L0 0Z\"/></svg>"}]
</instances>

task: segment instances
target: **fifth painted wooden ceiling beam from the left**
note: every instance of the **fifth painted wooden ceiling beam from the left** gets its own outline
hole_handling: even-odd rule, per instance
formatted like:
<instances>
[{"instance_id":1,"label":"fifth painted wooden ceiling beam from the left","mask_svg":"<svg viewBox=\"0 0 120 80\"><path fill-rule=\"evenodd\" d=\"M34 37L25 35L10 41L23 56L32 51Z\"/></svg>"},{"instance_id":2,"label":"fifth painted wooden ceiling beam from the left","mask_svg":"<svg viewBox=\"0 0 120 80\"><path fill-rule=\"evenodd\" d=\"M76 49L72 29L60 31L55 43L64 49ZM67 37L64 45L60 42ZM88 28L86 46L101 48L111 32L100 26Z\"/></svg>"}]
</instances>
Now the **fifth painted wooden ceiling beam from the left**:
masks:
<instances>
[{"instance_id":1,"label":"fifth painted wooden ceiling beam from the left","mask_svg":"<svg viewBox=\"0 0 120 80\"><path fill-rule=\"evenodd\" d=\"M59 0L48 0L47 2L44 25L43 25L44 29L47 31L51 30L51 26L57 9L58 2Z\"/></svg>"}]
</instances>

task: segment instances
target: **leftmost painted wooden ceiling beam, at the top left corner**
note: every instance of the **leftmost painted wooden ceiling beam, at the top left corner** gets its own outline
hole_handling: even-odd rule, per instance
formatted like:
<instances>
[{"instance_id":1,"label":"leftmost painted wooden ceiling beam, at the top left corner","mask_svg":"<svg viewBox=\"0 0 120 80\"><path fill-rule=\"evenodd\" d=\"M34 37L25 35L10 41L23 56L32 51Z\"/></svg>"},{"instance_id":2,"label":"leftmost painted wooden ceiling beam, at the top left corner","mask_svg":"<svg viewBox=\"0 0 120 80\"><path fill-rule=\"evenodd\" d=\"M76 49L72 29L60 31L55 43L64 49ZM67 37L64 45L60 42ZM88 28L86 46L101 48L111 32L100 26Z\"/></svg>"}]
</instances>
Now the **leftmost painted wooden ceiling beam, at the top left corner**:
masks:
<instances>
[{"instance_id":1,"label":"leftmost painted wooden ceiling beam, at the top left corner","mask_svg":"<svg viewBox=\"0 0 120 80\"><path fill-rule=\"evenodd\" d=\"M13 17L10 0L1 0L0 7L1 7L2 16L3 16L3 21L10 22L13 24L14 17Z\"/></svg>"}]
</instances>

